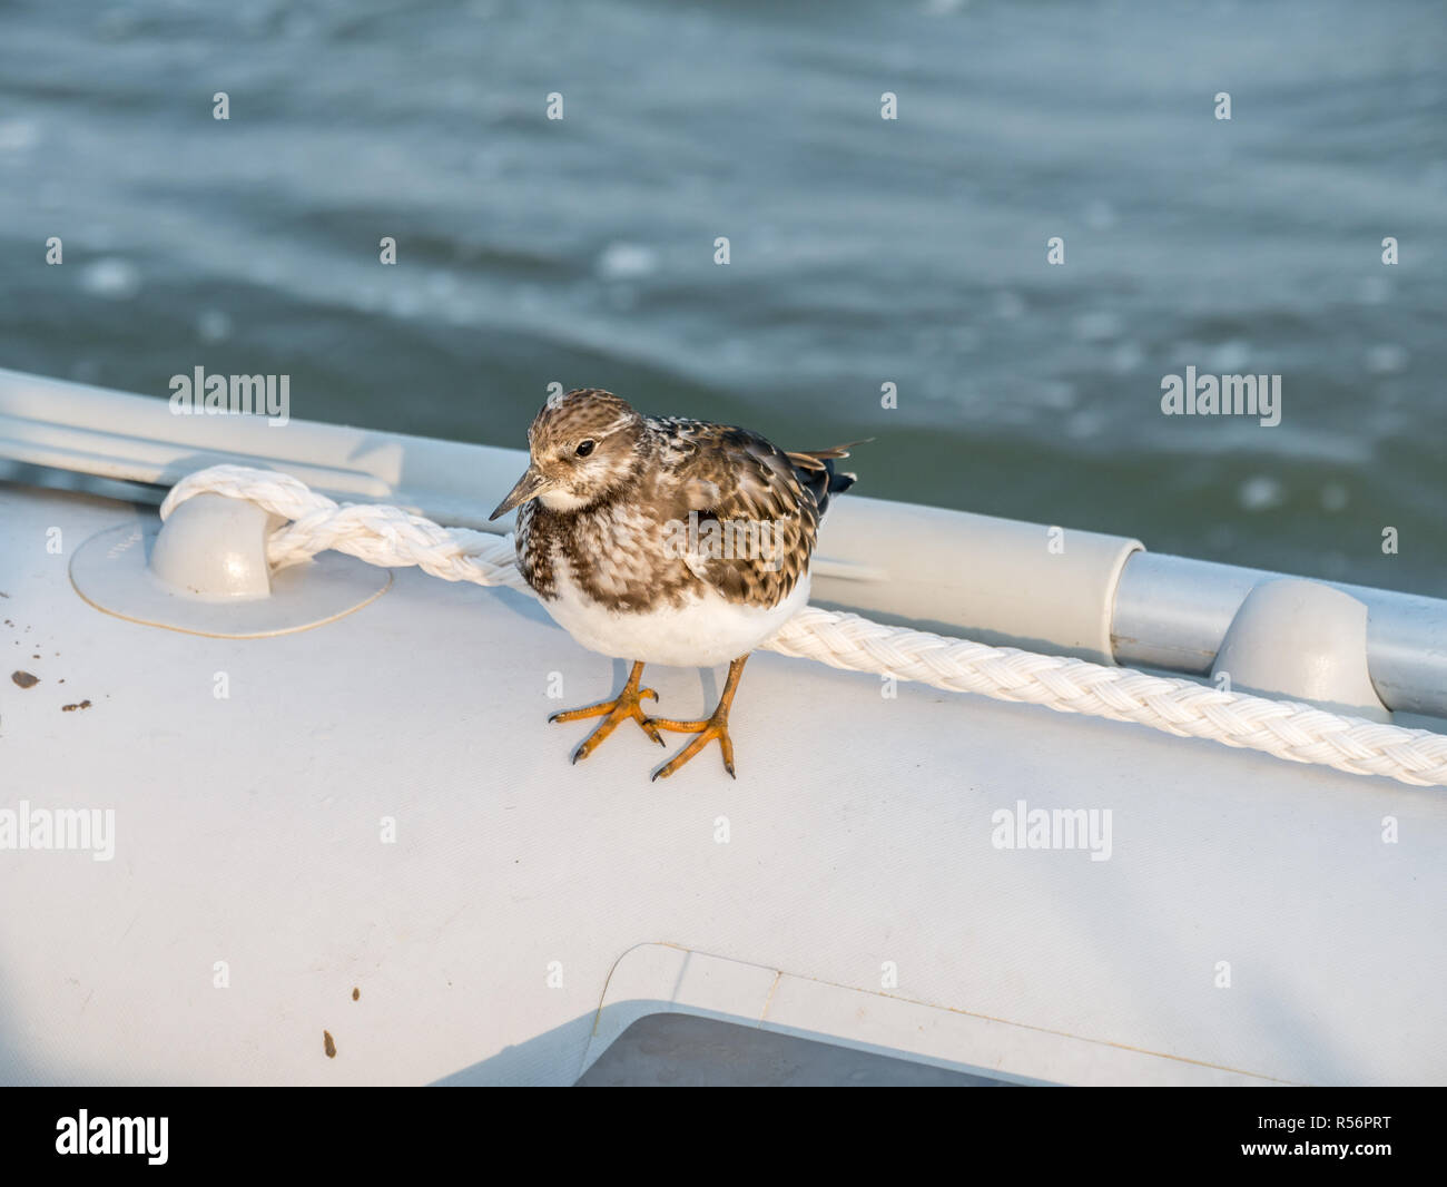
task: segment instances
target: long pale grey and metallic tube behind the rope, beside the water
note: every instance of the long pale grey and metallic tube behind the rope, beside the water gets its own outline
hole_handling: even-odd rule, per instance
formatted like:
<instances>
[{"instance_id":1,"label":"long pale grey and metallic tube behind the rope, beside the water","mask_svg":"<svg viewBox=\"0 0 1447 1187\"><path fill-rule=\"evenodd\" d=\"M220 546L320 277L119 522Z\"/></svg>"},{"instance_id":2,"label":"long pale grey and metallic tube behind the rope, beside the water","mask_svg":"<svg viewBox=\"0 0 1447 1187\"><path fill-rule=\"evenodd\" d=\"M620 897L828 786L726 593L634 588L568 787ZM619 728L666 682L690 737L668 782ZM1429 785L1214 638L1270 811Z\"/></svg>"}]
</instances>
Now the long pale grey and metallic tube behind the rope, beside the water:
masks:
<instances>
[{"instance_id":1,"label":"long pale grey and metallic tube behind the rope, beside the water","mask_svg":"<svg viewBox=\"0 0 1447 1187\"><path fill-rule=\"evenodd\" d=\"M0 371L0 459L165 489L210 465L282 469L343 501L394 502L438 523L486 521L521 450L263 417L177 415L165 400ZM1137 540L854 497L815 565L815 601L983 643L1200 676L1247 594L1281 575L1145 552ZM1323 582L1369 611L1382 705L1447 718L1447 601Z\"/></svg>"}]
</instances>

